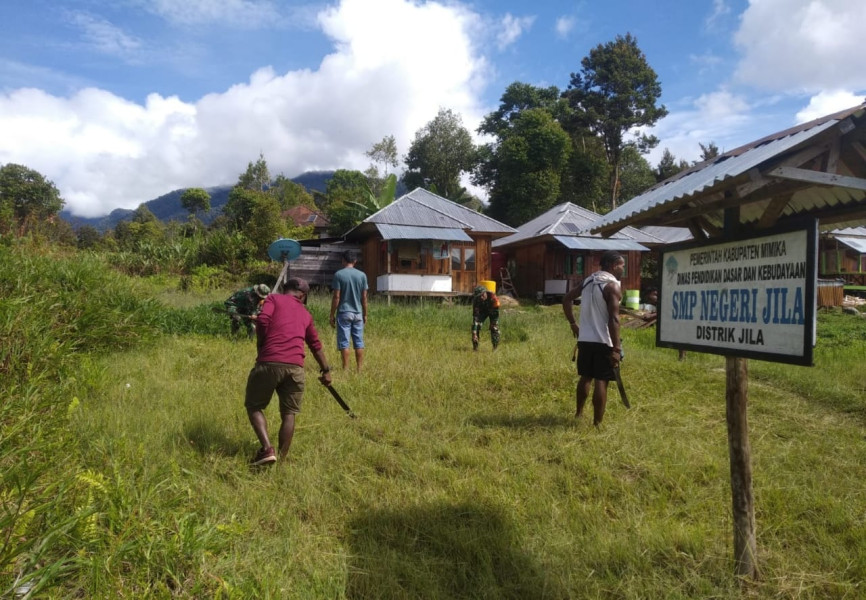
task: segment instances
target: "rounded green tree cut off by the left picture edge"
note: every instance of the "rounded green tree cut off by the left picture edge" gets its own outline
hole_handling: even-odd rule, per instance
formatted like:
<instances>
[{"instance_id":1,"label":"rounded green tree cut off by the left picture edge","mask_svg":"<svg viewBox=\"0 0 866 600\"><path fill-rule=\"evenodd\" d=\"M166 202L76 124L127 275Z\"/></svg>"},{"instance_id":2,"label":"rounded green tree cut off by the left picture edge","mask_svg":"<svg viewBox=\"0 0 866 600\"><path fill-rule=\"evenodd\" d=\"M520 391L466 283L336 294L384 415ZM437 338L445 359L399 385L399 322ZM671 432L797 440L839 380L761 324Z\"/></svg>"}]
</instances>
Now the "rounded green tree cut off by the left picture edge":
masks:
<instances>
[{"instance_id":1,"label":"rounded green tree cut off by the left picture edge","mask_svg":"<svg viewBox=\"0 0 866 600\"><path fill-rule=\"evenodd\" d=\"M38 171L14 163L0 167L0 233L24 235L57 215L63 204L54 183Z\"/></svg>"}]
</instances>

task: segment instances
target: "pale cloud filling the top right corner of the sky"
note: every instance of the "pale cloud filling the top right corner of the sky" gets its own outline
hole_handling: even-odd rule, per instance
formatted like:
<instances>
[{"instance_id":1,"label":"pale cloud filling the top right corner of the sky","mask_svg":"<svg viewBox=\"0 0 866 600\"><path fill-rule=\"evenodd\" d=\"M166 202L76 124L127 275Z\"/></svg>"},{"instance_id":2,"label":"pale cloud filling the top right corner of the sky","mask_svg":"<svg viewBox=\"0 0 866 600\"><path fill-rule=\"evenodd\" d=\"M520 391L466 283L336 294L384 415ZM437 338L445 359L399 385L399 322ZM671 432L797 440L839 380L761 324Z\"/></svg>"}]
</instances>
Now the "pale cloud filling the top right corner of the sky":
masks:
<instances>
[{"instance_id":1,"label":"pale cloud filling the top right corner of the sky","mask_svg":"<svg viewBox=\"0 0 866 600\"><path fill-rule=\"evenodd\" d=\"M740 81L814 94L866 89L862 0L751 0L735 43Z\"/></svg>"}]
</instances>

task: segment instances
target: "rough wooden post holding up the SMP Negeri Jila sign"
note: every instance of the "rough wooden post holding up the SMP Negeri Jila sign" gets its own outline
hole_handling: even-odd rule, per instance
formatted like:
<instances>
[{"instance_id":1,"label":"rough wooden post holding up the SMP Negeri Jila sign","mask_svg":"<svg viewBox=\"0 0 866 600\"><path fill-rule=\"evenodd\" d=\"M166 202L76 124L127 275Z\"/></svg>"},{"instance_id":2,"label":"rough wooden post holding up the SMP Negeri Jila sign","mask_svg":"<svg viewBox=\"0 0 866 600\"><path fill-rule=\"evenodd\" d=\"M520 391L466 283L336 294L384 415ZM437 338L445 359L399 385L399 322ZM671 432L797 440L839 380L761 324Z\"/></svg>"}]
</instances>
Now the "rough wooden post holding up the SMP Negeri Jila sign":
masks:
<instances>
[{"instance_id":1,"label":"rough wooden post holding up the SMP Negeri Jila sign","mask_svg":"<svg viewBox=\"0 0 866 600\"><path fill-rule=\"evenodd\" d=\"M749 365L745 358L726 357L725 399L728 452L731 461L731 503L734 516L734 561L737 575L757 579L755 503L752 496L752 451L746 408L749 400Z\"/></svg>"}]
</instances>

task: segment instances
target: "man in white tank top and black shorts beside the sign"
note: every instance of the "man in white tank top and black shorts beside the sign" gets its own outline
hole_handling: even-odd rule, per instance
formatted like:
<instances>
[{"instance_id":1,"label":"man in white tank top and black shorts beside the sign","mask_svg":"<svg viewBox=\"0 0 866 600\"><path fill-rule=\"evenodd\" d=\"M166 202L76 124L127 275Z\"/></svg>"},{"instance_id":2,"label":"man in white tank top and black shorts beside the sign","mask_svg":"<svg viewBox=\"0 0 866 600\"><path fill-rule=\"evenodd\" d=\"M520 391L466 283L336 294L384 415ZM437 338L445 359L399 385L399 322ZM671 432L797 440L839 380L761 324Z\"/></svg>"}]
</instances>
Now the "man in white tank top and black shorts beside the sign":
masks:
<instances>
[{"instance_id":1,"label":"man in white tank top and black shorts beside the sign","mask_svg":"<svg viewBox=\"0 0 866 600\"><path fill-rule=\"evenodd\" d=\"M619 338L619 304L622 289L619 280L625 271L625 259L618 252L601 255L601 270L583 280L562 299L562 312L577 338L577 410L583 406L592 388L593 423L598 426L607 406L607 385L616 377L614 369L622 359ZM572 304L580 296L580 324L574 319ZM593 382L594 385L593 385Z\"/></svg>"}]
</instances>

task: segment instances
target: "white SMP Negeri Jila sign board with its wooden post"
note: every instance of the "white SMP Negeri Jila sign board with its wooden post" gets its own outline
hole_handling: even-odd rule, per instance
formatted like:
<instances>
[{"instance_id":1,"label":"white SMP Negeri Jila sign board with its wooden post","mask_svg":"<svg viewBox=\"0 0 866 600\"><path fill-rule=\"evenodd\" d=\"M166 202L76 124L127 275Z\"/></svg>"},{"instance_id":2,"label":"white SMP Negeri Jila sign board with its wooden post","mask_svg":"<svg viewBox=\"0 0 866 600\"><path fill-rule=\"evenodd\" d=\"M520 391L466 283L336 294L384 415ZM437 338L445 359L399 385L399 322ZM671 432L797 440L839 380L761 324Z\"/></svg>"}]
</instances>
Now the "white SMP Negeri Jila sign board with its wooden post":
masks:
<instances>
[{"instance_id":1,"label":"white SMP Negeri Jila sign board with its wooden post","mask_svg":"<svg viewBox=\"0 0 866 600\"><path fill-rule=\"evenodd\" d=\"M726 231L726 233L728 233ZM817 222L662 251L656 345L726 357L734 561L759 574L747 407L748 359L812 365Z\"/></svg>"}]
</instances>

